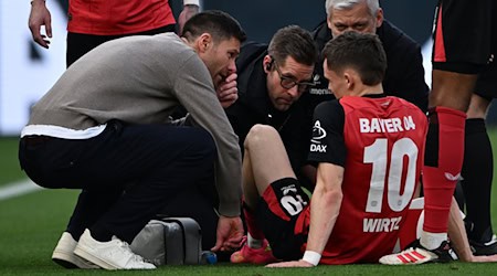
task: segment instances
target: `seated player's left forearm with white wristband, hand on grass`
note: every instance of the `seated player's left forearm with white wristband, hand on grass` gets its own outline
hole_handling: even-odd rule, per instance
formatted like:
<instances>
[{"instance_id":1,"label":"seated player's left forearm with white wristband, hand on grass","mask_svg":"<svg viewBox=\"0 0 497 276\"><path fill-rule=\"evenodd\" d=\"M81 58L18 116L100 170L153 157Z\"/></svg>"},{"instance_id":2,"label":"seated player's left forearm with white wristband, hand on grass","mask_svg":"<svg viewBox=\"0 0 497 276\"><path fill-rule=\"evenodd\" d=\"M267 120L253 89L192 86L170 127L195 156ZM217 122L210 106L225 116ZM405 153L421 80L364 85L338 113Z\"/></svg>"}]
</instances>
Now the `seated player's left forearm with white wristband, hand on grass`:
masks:
<instances>
[{"instance_id":1,"label":"seated player's left forearm with white wristband, hand on grass","mask_svg":"<svg viewBox=\"0 0 497 276\"><path fill-rule=\"evenodd\" d=\"M303 259L275 263L268 267L314 267L319 263L340 212L342 180L343 167L319 163L316 189L310 201L310 226L306 254Z\"/></svg>"}]
</instances>

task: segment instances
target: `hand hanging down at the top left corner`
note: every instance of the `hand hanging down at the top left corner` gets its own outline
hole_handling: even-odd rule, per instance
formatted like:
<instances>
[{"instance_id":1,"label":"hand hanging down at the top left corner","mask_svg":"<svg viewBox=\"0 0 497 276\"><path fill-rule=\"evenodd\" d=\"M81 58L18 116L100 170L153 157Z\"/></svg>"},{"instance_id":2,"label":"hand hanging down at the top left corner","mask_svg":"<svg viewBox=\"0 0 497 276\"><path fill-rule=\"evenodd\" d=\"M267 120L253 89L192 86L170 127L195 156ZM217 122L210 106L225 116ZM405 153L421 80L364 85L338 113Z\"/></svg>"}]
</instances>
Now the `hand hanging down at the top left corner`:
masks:
<instances>
[{"instance_id":1,"label":"hand hanging down at the top left corner","mask_svg":"<svg viewBox=\"0 0 497 276\"><path fill-rule=\"evenodd\" d=\"M49 49L50 40L52 38L52 15L46 9L44 0L33 0L31 3L30 18L28 25L31 30L33 40L42 47ZM41 26L45 26L45 34L41 33Z\"/></svg>"}]
</instances>

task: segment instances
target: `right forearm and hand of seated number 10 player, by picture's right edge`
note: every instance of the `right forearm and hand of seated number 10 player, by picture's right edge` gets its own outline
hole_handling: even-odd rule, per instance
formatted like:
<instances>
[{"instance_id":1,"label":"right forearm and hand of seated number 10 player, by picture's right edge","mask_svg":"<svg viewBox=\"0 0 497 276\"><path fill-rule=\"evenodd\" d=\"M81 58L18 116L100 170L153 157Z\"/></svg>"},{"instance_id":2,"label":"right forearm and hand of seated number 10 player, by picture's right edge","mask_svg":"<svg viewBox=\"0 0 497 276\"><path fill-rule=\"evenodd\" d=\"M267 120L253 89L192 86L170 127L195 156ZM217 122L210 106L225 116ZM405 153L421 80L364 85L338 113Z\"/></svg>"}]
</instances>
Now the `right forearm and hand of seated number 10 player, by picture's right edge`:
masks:
<instances>
[{"instance_id":1,"label":"right forearm and hand of seated number 10 player, by picture's right edge","mask_svg":"<svg viewBox=\"0 0 497 276\"><path fill-rule=\"evenodd\" d=\"M475 256L469 247L467 240L466 227L464 226L463 217L457 202L452 198L451 212L448 215L448 237L454 247L457 257L463 262L468 263L488 263L497 262L497 254L490 256Z\"/></svg>"}]
</instances>

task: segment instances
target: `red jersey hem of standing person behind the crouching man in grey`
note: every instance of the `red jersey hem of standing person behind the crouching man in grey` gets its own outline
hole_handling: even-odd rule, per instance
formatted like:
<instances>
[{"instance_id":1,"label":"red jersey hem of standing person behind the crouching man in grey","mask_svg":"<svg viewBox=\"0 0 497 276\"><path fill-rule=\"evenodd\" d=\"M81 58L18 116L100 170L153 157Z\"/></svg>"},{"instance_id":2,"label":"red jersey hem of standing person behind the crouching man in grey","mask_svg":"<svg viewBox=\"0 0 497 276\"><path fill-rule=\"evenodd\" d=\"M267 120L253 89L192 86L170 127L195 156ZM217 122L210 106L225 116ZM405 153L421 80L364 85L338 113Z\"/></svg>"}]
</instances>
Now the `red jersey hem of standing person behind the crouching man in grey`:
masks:
<instances>
[{"instance_id":1,"label":"red jersey hem of standing person behind the crouching man in grey","mask_svg":"<svg viewBox=\"0 0 497 276\"><path fill-rule=\"evenodd\" d=\"M73 33L121 35L175 23L169 0L70 0Z\"/></svg>"}]
</instances>

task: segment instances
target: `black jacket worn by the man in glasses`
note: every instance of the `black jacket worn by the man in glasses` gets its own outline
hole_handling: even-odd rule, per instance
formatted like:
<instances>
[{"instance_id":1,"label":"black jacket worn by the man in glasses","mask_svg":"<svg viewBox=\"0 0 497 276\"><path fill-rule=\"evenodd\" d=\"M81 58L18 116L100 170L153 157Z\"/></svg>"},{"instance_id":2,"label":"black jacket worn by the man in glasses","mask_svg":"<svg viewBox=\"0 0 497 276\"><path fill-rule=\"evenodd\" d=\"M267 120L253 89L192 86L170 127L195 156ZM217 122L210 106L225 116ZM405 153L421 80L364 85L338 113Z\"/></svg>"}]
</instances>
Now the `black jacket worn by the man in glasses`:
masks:
<instances>
[{"instance_id":1,"label":"black jacket worn by the man in glasses","mask_svg":"<svg viewBox=\"0 0 497 276\"><path fill-rule=\"evenodd\" d=\"M304 110L295 104L286 112L273 107L266 86L267 75L263 68L266 54L267 44L250 42L242 46L236 60L239 99L226 108L228 119L239 136L242 151L245 137L254 125L273 126L282 137L294 171L298 172L308 145L307 140L303 140L304 135L300 135L307 129L303 126Z\"/></svg>"}]
</instances>

